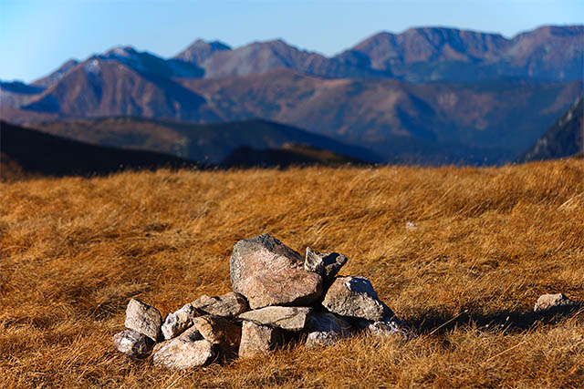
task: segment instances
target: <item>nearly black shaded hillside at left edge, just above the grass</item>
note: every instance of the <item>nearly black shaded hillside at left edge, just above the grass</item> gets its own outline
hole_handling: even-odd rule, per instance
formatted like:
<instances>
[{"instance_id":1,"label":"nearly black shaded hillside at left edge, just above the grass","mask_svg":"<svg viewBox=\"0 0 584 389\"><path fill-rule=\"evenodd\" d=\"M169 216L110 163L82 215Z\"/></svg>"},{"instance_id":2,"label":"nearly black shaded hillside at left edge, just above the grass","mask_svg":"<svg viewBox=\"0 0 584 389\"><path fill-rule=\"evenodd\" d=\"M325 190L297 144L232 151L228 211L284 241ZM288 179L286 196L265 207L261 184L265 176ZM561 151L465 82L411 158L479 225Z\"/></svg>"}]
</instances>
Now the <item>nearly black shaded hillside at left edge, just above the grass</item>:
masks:
<instances>
[{"instance_id":1,"label":"nearly black shaded hillside at left edge, just above the grass","mask_svg":"<svg viewBox=\"0 0 584 389\"><path fill-rule=\"evenodd\" d=\"M192 167L186 159L150 151L88 145L0 121L0 179L108 174L120 169Z\"/></svg>"}]
</instances>

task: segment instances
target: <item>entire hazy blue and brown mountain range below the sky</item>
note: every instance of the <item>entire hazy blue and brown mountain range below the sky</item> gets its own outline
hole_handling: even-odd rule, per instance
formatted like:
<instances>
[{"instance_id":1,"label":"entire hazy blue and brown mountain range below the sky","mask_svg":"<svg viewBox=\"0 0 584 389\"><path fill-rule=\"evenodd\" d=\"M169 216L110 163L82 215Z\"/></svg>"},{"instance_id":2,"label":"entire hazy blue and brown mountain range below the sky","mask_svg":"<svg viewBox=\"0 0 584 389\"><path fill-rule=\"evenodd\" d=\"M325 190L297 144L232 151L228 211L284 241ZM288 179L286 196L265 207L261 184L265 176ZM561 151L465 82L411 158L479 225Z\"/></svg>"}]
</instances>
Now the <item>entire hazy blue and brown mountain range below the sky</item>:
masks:
<instances>
[{"instance_id":1,"label":"entire hazy blue and brown mountain range below the sky","mask_svg":"<svg viewBox=\"0 0 584 389\"><path fill-rule=\"evenodd\" d=\"M581 95L583 56L584 26L512 38L412 28L332 57L282 40L196 40L169 59L114 47L30 85L2 83L0 108L14 123L263 118L386 162L497 164L525 152Z\"/></svg>"}]
</instances>

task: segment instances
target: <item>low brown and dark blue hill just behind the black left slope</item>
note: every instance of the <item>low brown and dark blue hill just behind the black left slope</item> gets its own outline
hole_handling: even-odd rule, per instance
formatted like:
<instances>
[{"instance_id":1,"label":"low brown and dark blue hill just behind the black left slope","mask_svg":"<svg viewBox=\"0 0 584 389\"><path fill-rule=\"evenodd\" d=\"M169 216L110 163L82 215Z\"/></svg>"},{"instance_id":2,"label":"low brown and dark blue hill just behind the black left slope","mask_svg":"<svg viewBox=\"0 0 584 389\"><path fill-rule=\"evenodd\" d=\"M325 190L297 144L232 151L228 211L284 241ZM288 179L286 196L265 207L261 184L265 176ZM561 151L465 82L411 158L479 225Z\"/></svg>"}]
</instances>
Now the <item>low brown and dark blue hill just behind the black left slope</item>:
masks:
<instances>
[{"instance_id":1,"label":"low brown and dark blue hill just behind the black left slope","mask_svg":"<svg viewBox=\"0 0 584 389\"><path fill-rule=\"evenodd\" d=\"M27 126L91 144L147 149L214 164L224 161L236 148L280 148L287 143L306 144L370 162L382 160L369 149L266 120L197 125L145 118L96 118Z\"/></svg>"}]
</instances>

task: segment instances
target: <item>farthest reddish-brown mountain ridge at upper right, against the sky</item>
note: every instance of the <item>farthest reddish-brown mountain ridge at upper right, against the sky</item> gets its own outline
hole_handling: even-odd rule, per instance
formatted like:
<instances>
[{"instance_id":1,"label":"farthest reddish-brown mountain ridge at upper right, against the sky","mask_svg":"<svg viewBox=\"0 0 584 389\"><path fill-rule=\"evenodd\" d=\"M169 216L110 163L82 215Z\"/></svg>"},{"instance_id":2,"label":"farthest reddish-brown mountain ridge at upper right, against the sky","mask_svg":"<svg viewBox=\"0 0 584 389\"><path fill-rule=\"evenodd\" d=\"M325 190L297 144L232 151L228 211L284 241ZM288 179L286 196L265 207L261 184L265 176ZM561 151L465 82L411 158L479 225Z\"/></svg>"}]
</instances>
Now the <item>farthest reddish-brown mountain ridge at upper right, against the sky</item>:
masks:
<instances>
[{"instance_id":1,"label":"farthest reddish-brown mountain ridge at upper right, against the sky","mask_svg":"<svg viewBox=\"0 0 584 389\"><path fill-rule=\"evenodd\" d=\"M506 39L443 27L382 32L339 54L342 62L412 82L494 77L582 78L584 26L542 26Z\"/></svg>"}]
</instances>

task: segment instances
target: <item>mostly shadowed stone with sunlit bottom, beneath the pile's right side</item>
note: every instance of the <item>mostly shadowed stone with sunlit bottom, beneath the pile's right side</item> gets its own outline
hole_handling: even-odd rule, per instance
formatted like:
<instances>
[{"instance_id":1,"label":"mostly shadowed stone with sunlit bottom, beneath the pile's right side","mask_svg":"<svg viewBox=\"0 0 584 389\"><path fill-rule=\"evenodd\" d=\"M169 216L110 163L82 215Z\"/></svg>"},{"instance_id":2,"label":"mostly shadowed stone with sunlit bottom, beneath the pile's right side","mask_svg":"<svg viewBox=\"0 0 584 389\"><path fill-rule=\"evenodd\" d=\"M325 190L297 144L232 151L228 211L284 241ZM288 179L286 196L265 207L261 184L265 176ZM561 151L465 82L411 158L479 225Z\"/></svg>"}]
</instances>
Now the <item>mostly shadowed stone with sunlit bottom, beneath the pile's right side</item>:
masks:
<instances>
[{"instance_id":1,"label":"mostly shadowed stone with sunlit bottom, beneath the pile's right side","mask_svg":"<svg viewBox=\"0 0 584 389\"><path fill-rule=\"evenodd\" d=\"M307 345L329 345L349 336L350 323L331 312L312 312L306 326Z\"/></svg>"}]
</instances>

